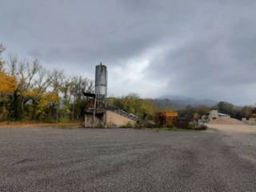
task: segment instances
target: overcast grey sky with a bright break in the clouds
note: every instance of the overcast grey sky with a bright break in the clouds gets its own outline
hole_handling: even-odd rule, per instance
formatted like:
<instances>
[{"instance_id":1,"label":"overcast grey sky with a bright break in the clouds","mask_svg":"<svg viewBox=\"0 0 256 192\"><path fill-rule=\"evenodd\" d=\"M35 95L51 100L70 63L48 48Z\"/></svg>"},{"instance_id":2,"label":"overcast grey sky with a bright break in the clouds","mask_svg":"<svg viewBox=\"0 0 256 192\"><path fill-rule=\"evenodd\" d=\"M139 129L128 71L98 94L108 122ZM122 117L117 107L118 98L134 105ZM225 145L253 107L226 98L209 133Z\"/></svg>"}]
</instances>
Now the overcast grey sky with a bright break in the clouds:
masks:
<instances>
[{"instance_id":1,"label":"overcast grey sky with a bright break in the clouds","mask_svg":"<svg viewBox=\"0 0 256 192\"><path fill-rule=\"evenodd\" d=\"M108 94L256 103L255 0L0 0L7 54L94 79Z\"/></svg>"}]
</instances>

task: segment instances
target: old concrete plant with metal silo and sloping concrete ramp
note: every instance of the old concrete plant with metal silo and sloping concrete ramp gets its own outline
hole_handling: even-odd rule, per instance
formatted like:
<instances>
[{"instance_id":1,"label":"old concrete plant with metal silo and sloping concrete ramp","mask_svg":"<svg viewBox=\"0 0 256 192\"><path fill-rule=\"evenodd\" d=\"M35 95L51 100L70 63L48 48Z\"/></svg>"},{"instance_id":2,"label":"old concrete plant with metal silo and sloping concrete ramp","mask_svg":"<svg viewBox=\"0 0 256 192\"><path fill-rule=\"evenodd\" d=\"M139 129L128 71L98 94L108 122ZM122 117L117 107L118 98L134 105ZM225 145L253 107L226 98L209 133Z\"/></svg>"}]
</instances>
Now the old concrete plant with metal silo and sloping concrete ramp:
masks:
<instances>
[{"instance_id":1,"label":"old concrete plant with metal silo and sloping concrete ramp","mask_svg":"<svg viewBox=\"0 0 256 192\"><path fill-rule=\"evenodd\" d=\"M84 93L88 102L85 109L85 127L133 126L139 118L106 103L107 68L96 66L94 91Z\"/></svg>"}]
</instances>

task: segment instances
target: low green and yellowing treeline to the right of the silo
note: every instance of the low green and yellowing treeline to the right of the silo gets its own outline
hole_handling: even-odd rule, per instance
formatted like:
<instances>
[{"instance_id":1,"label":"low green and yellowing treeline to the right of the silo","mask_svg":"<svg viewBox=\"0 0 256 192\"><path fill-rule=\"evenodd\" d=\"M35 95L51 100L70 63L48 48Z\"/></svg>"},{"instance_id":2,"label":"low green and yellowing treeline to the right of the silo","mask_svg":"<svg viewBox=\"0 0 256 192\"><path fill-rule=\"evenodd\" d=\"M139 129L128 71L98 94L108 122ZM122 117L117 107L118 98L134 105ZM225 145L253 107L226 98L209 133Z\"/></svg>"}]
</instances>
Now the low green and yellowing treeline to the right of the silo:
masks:
<instances>
[{"instance_id":1,"label":"low green and yellowing treeline to the right of the silo","mask_svg":"<svg viewBox=\"0 0 256 192\"><path fill-rule=\"evenodd\" d=\"M166 99L163 99L166 102ZM250 118L252 115L253 106L234 106L230 102L218 102L214 106L191 106L188 105L182 109L175 109L172 107L172 102L169 105L162 106L159 104L159 99L157 102L150 98L139 98L137 94L129 94L121 98L108 98L108 102L118 107L121 110L126 110L132 114L138 115L142 119L152 119L154 120L154 115L162 111L177 111L178 116L181 118L194 119L197 120L201 118L202 115L209 113L210 110L218 110L218 112L223 114L230 114L232 118ZM175 104L174 104L175 105Z\"/></svg>"}]
</instances>

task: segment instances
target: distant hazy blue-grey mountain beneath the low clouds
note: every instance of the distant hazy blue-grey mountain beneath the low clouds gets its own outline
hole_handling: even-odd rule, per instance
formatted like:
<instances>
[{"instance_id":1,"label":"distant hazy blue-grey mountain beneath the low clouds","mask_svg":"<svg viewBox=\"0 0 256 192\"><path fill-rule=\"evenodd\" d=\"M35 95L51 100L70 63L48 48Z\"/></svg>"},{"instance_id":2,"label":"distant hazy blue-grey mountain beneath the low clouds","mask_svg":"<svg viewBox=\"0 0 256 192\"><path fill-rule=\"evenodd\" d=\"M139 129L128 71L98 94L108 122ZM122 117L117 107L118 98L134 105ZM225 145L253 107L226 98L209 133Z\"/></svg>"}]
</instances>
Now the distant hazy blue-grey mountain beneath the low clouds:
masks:
<instances>
[{"instance_id":1,"label":"distant hazy blue-grey mountain beneath the low clouds","mask_svg":"<svg viewBox=\"0 0 256 192\"><path fill-rule=\"evenodd\" d=\"M154 103L160 107L170 107L175 110L185 108L186 106L215 106L218 102L211 99L199 100L196 98L189 98L183 96L162 96L154 99Z\"/></svg>"}]
</instances>

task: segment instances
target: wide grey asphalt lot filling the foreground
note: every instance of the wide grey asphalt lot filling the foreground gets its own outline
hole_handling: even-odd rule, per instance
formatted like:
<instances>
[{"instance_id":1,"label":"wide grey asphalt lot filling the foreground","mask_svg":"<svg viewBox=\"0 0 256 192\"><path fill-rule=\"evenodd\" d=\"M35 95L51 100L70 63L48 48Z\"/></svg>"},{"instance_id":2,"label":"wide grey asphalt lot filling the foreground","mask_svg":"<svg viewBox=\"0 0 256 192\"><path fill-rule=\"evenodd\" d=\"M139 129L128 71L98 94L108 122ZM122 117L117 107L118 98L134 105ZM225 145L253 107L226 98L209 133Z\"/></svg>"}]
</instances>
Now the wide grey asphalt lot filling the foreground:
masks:
<instances>
[{"instance_id":1,"label":"wide grey asphalt lot filling the foreground","mask_svg":"<svg viewBox=\"0 0 256 192\"><path fill-rule=\"evenodd\" d=\"M0 129L0 191L256 191L256 131Z\"/></svg>"}]
</instances>

